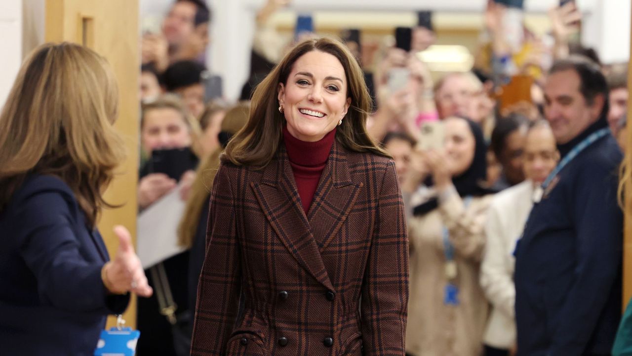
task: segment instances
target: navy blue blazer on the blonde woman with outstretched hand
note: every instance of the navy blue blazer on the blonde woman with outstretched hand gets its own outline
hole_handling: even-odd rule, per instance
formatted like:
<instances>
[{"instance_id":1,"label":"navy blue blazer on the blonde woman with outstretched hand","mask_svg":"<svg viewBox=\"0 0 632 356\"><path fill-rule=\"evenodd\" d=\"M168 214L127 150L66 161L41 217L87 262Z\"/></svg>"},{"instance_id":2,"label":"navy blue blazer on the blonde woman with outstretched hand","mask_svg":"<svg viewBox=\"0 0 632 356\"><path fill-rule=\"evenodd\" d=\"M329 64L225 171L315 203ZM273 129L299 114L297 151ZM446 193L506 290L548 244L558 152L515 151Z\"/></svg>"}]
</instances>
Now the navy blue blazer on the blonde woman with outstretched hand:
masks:
<instances>
[{"instance_id":1,"label":"navy blue blazer on the blonde woman with outstretched hand","mask_svg":"<svg viewBox=\"0 0 632 356\"><path fill-rule=\"evenodd\" d=\"M94 355L107 314L130 296L106 296L106 246L70 188L27 177L0 212L0 236L0 353Z\"/></svg>"}]
</instances>

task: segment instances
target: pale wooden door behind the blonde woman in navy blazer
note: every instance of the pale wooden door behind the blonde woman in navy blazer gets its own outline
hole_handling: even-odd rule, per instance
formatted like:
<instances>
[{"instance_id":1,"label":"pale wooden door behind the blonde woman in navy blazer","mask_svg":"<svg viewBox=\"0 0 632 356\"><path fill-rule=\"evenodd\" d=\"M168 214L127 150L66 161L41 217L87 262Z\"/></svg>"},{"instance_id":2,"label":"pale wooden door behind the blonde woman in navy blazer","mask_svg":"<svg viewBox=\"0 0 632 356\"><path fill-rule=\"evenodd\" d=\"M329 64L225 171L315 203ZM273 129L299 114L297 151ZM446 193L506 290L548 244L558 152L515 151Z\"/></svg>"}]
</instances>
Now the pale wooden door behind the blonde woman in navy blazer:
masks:
<instances>
[{"instance_id":1,"label":"pale wooden door behind the blonde woman in navy blazer","mask_svg":"<svg viewBox=\"0 0 632 356\"><path fill-rule=\"evenodd\" d=\"M119 117L115 127L125 139L126 160L119 174L106 191L108 203L123 207L105 210L99 230L113 257L118 239L112 227L127 227L135 239L138 181L139 98L140 72L138 42L138 0L46 0L47 42L76 42L94 49L107 58L119 87ZM128 326L136 324L136 300L126 311ZM108 325L112 325L110 318Z\"/></svg>"}]
</instances>

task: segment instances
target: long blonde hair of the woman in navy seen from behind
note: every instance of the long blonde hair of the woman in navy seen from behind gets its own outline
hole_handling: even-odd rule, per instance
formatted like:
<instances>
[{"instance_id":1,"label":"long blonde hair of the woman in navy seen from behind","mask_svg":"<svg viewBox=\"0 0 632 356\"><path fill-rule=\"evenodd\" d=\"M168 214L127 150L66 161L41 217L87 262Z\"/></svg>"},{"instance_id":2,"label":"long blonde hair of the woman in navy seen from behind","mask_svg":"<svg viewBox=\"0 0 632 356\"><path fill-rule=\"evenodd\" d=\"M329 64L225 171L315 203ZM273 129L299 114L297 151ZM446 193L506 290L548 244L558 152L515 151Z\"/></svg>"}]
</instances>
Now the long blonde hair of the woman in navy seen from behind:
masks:
<instances>
[{"instance_id":1,"label":"long blonde hair of the woman in navy seen from behind","mask_svg":"<svg viewBox=\"0 0 632 356\"><path fill-rule=\"evenodd\" d=\"M94 227L102 191L123 159L112 124L118 87L91 49L44 44L25 60L0 113L0 212L27 175L59 177Z\"/></svg>"}]
</instances>

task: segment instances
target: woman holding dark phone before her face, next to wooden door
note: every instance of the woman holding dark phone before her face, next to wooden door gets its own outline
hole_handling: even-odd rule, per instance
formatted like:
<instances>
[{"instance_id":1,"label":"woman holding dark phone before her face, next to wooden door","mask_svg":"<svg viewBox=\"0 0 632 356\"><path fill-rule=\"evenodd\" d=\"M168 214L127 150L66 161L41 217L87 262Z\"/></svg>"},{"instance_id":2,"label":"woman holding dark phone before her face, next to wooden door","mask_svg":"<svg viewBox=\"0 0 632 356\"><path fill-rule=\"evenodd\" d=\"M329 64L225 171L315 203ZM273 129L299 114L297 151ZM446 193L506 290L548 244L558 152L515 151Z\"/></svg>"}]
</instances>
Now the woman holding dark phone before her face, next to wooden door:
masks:
<instances>
[{"instance_id":1,"label":"woman holding dark phone before her face, next to wooden door","mask_svg":"<svg viewBox=\"0 0 632 356\"><path fill-rule=\"evenodd\" d=\"M177 96L165 95L143 106L141 144L143 150L150 153L150 158L140 172L138 206L142 212L139 220L165 219L164 215L173 215L178 211L178 203L183 204L187 200L198 164L198 157L195 154L198 152L196 124ZM169 200L167 195L171 194L178 196L175 200ZM169 213L164 213L162 208L168 208ZM149 214L149 217L145 214ZM168 228L165 230L169 231ZM140 238L143 238L146 230L142 224L139 224L138 231ZM176 226L173 226L171 231L175 241ZM166 307L161 307L161 300L167 300L166 285L169 286L171 299L177 306L174 310L176 318L181 317L182 312L187 310L187 266L188 251L181 251L157 264L145 266L149 284L154 287L156 293L154 297L138 302L137 326L145 335L138 340L139 355L181 355L181 348L188 350L189 345L181 346L178 342L181 339L174 337L178 335L174 334L173 329L176 328L172 328L167 317L161 314L166 310ZM186 344L186 341L182 344Z\"/></svg>"}]
</instances>

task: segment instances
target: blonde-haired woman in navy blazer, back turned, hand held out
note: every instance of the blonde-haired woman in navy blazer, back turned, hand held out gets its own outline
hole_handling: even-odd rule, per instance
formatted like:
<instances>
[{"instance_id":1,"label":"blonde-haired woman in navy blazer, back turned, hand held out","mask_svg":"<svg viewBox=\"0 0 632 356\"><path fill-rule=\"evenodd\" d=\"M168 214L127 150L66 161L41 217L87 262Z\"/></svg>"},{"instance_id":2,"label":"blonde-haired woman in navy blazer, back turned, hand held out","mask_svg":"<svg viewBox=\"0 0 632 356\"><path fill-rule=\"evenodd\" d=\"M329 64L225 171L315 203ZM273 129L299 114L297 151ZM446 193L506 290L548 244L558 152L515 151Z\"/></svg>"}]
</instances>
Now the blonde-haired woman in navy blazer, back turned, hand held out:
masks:
<instances>
[{"instance_id":1,"label":"blonde-haired woman in navy blazer, back turned, hand held out","mask_svg":"<svg viewBox=\"0 0 632 356\"><path fill-rule=\"evenodd\" d=\"M44 44L0 114L0 345L6 355L92 355L107 314L149 296L124 227L109 261L96 230L123 155L106 60Z\"/></svg>"}]
</instances>

